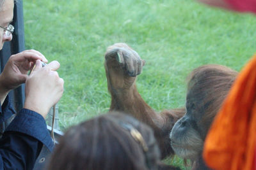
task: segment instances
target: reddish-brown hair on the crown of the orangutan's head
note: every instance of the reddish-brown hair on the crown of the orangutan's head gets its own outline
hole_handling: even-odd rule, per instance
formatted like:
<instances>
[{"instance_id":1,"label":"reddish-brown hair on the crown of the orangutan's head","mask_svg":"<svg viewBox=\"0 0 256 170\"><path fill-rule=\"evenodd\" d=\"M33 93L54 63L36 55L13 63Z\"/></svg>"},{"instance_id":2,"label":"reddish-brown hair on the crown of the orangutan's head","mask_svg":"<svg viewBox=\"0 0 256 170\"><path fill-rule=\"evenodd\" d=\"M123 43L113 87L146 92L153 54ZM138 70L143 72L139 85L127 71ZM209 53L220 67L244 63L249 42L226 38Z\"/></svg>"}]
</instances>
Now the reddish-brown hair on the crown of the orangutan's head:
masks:
<instances>
[{"instance_id":1,"label":"reddish-brown hair on the crown of the orangutan's head","mask_svg":"<svg viewBox=\"0 0 256 170\"><path fill-rule=\"evenodd\" d=\"M207 64L194 69L188 76L187 102L195 103L204 115L202 122L210 125L236 80L237 71L218 64ZM189 99L189 100L188 100ZM189 101L189 102L190 102ZM205 127L205 131L209 127ZM206 133L205 133L206 134Z\"/></svg>"}]
</instances>

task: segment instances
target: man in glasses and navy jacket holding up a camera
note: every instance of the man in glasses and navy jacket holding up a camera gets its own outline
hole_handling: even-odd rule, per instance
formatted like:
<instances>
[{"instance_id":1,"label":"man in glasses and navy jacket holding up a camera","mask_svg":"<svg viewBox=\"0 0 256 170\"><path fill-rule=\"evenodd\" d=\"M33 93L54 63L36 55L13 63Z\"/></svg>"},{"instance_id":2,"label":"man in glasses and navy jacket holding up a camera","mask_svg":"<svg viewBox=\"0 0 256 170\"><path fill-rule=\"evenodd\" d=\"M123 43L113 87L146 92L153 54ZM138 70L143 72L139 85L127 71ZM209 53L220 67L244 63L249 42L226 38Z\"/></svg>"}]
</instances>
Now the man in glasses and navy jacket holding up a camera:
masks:
<instances>
[{"instance_id":1,"label":"man in glasses and navy jacket holding up a camera","mask_svg":"<svg viewBox=\"0 0 256 170\"><path fill-rule=\"evenodd\" d=\"M0 50L12 40L14 27L13 0L0 0ZM47 131L45 117L63 94L64 81L58 76L60 63L47 62L36 50L25 50L12 55L0 74L0 123L10 118L13 110L8 93L26 83L24 108L17 113L0 138L0 169L33 169L42 146L52 151L54 144ZM35 66L33 72L28 71Z\"/></svg>"}]
</instances>

